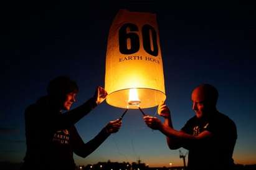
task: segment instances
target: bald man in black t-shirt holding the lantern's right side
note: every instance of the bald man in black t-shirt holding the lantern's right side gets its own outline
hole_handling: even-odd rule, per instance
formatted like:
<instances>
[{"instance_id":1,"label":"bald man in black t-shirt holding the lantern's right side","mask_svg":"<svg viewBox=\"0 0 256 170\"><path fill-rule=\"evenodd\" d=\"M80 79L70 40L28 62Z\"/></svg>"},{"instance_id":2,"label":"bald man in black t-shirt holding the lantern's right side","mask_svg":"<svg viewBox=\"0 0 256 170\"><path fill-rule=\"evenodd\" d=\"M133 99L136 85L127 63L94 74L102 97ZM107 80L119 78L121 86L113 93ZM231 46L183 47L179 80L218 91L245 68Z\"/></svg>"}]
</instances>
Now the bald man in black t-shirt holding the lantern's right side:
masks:
<instances>
[{"instance_id":1,"label":"bald man in black t-shirt holding the lantern's right side","mask_svg":"<svg viewBox=\"0 0 256 170\"><path fill-rule=\"evenodd\" d=\"M171 121L169 108L162 104L158 114L164 117L164 123L153 116L145 116L146 125L166 135L170 149L189 150L187 169L232 169L232 154L237 130L234 121L216 108L219 93L209 84L196 87L191 95L192 110L196 115L186 125L176 131Z\"/></svg>"}]
</instances>

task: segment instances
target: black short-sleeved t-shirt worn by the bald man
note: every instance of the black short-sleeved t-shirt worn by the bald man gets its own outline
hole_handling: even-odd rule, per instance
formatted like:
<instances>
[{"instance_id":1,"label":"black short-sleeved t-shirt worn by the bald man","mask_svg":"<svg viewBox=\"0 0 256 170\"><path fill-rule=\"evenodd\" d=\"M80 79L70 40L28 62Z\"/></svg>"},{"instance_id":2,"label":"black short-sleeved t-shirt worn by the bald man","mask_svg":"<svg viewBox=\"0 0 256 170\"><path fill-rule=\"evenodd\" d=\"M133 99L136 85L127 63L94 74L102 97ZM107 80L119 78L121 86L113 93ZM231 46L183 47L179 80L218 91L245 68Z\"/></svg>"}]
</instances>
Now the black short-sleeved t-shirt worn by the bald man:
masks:
<instances>
[{"instance_id":1,"label":"black short-sleeved t-shirt worn by the bald man","mask_svg":"<svg viewBox=\"0 0 256 170\"><path fill-rule=\"evenodd\" d=\"M228 116L219 112L212 114L207 120L194 116L181 130L194 136L206 130L212 133L211 138L194 141L186 146L189 149L189 170L232 168L237 130L234 121Z\"/></svg>"}]
</instances>

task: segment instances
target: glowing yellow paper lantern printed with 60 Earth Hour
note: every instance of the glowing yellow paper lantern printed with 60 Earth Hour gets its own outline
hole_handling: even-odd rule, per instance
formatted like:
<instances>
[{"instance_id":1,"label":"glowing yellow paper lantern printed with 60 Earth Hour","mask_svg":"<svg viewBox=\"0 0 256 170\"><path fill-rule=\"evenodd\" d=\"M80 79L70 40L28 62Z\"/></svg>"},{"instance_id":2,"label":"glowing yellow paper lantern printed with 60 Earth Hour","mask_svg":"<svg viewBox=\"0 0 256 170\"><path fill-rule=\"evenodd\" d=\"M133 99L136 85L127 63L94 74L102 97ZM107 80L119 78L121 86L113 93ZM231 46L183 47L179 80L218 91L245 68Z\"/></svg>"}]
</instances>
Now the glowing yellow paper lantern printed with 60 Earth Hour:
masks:
<instances>
[{"instance_id":1,"label":"glowing yellow paper lantern printed with 60 Earth Hour","mask_svg":"<svg viewBox=\"0 0 256 170\"><path fill-rule=\"evenodd\" d=\"M166 99L156 14L120 10L108 35L107 103L149 108Z\"/></svg>"}]
</instances>

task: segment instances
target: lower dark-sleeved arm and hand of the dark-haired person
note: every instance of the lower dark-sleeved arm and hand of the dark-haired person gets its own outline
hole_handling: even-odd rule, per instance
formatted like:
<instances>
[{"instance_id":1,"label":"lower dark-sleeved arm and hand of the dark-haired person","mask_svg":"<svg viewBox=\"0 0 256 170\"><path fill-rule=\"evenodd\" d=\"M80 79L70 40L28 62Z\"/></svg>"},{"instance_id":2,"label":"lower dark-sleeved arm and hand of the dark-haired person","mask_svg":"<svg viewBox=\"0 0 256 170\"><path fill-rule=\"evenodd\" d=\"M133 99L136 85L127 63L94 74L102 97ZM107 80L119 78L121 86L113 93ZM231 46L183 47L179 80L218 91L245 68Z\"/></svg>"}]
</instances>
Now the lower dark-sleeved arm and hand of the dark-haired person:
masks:
<instances>
[{"instance_id":1,"label":"lower dark-sleeved arm and hand of the dark-haired person","mask_svg":"<svg viewBox=\"0 0 256 170\"><path fill-rule=\"evenodd\" d=\"M87 157L89 154L93 153L93 151L95 151L100 146L100 144L102 144L105 139L111 135L111 133L116 133L120 127L121 120L110 121L107 126L105 126L105 128L103 128L102 131L100 131L100 133L95 136L95 138L88 141L87 143L83 143L82 139L76 132L77 137L75 139L75 144L73 144L75 154L81 156L82 158Z\"/></svg>"}]
</instances>

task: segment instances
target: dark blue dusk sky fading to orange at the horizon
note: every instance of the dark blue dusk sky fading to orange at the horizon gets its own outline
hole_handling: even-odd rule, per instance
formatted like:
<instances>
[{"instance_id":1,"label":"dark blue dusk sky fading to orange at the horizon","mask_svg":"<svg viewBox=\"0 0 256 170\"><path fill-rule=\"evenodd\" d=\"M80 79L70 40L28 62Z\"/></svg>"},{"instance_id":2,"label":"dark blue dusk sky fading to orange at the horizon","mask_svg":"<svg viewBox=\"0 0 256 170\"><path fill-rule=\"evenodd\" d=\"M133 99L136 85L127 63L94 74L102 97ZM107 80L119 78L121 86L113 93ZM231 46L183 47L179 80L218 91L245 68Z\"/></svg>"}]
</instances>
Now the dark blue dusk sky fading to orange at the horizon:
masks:
<instances>
[{"instance_id":1,"label":"dark blue dusk sky fading to orange at the horizon","mask_svg":"<svg viewBox=\"0 0 256 170\"><path fill-rule=\"evenodd\" d=\"M237 125L235 163L256 164L256 9L243 1L1 4L0 161L22 162L24 110L46 95L52 78L69 75L78 83L80 92L72 108L92 97L97 85L104 87L108 31L119 9L156 14L166 104L174 128L180 130L194 116L194 87L210 83L219 90L217 109ZM156 109L145 109L145 113L158 116ZM75 126L87 142L122 113L123 109L104 102ZM179 149L170 150L165 136L149 129L140 111L129 110L118 133L87 158L75 156L75 163L109 159L131 163L138 158L151 167L183 165Z\"/></svg>"}]
</instances>

